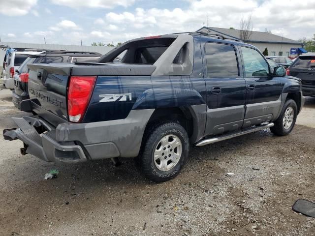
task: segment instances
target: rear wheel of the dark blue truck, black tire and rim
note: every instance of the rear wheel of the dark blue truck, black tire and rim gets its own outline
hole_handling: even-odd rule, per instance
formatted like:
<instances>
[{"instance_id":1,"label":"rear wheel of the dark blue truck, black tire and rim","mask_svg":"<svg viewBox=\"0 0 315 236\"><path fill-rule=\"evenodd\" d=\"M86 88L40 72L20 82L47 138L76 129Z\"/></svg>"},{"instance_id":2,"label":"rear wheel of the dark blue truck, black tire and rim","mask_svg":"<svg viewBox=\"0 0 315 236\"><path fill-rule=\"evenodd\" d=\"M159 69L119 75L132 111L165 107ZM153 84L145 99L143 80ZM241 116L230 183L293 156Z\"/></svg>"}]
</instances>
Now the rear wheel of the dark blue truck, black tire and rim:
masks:
<instances>
[{"instance_id":1,"label":"rear wheel of the dark blue truck, black tire and rim","mask_svg":"<svg viewBox=\"0 0 315 236\"><path fill-rule=\"evenodd\" d=\"M142 143L136 163L145 177L152 181L164 182L174 178L187 160L189 137L179 123L166 122L149 128Z\"/></svg>"}]
</instances>

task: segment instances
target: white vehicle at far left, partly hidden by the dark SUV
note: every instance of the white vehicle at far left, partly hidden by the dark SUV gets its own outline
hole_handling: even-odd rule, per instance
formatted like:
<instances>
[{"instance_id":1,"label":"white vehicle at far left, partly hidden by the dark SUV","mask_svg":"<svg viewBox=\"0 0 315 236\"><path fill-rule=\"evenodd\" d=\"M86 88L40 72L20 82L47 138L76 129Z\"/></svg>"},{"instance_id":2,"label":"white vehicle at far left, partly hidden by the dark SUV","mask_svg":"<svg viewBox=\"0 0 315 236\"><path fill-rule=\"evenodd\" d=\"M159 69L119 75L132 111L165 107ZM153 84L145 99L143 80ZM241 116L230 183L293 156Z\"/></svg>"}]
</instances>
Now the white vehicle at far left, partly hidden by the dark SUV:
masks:
<instances>
[{"instance_id":1,"label":"white vehicle at far left, partly hidden by the dark SUV","mask_svg":"<svg viewBox=\"0 0 315 236\"><path fill-rule=\"evenodd\" d=\"M4 70L3 70L3 86L7 89L14 89L13 77L15 70L20 67L28 55L40 54L42 51L25 51L13 49L9 51L5 57Z\"/></svg>"}]
</instances>

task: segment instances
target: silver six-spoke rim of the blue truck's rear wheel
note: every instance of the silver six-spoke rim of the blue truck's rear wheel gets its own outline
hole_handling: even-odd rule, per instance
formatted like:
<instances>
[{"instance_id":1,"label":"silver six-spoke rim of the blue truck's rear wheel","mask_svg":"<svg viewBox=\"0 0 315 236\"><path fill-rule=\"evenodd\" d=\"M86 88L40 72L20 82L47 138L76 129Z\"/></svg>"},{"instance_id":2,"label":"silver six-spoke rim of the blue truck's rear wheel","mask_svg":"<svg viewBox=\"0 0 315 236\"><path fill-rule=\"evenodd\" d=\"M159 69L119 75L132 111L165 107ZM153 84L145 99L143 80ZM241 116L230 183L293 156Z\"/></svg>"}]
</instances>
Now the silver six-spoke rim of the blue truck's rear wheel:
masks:
<instances>
[{"instance_id":1,"label":"silver six-spoke rim of the blue truck's rear wheel","mask_svg":"<svg viewBox=\"0 0 315 236\"><path fill-rule=\"evenodd\" d=\"M154 164L160 171L173 169L182 156L182 142L174 134L165 135L154 150Z\"/></svg>"}]
</instances>

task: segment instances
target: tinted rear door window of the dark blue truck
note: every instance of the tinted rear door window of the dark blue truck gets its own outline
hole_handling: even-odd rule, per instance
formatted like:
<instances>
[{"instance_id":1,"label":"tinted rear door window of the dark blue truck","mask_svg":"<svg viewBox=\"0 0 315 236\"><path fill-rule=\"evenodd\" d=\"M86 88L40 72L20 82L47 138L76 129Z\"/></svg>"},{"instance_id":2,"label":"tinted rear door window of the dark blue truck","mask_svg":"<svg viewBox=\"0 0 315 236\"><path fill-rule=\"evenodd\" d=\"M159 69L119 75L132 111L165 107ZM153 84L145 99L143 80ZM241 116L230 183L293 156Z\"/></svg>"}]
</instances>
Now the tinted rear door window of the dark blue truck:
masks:
<instances>
[{"instance_id":1,"label":"tinted rear door window of the dark blue truck","mask_svg":"<svg viewBox=\"0 0 315 236\"><path fill-rule=\"evenodd\" d=\"M207 75L213 78L238 77L234 47L222 43L206 43Z\"/></svg>"}]
</instances>

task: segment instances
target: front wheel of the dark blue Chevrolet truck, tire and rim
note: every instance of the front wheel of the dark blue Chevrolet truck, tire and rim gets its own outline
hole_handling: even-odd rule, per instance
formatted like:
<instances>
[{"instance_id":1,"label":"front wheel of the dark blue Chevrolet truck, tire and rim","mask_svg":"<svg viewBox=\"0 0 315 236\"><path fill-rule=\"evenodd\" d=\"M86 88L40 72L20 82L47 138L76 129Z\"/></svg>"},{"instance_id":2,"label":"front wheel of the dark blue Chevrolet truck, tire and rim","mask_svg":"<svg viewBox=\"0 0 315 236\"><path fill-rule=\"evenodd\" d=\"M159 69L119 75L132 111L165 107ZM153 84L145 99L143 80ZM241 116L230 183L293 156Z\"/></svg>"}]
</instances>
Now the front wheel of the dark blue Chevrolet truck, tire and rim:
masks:
<instances>
[{"instance_id":1,"label":"front wheel of the dark blue Chevrolet truck, tire and rim","mask_svg":"<svg viewBox=\"0 0 315 236\"><path fill-rule=\"evenodd\" d=\"M294 128L296 117L297 106L295 101L292 99L286 100L280 116L274 122L275 125L273 127L270 127L271 132L278 136L288 135Z\"/></svg>"}]
</instances>

